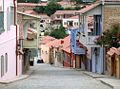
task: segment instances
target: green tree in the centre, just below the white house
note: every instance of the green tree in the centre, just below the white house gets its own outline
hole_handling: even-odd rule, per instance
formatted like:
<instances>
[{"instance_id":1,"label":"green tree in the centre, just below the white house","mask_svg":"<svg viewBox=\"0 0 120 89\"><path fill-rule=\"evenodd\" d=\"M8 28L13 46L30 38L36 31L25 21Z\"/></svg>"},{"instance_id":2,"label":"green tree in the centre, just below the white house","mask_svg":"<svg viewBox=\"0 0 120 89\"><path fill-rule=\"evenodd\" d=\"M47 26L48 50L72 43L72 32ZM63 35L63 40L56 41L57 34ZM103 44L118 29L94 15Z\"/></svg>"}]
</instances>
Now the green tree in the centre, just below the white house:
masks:
<instances>
[{"instance_id":1,"label":"green tree in the centre, just below the white house","mask_svg":"<svg viewBox=\"0 0 120 89\"><path fill-rule=\"evenodd\" d=\"M63 39L67 36L65 29L63 26L60 26L58 29L54 29L51 33L50 36L56 38L56 39Z\"/></svg>"}]
</instances>

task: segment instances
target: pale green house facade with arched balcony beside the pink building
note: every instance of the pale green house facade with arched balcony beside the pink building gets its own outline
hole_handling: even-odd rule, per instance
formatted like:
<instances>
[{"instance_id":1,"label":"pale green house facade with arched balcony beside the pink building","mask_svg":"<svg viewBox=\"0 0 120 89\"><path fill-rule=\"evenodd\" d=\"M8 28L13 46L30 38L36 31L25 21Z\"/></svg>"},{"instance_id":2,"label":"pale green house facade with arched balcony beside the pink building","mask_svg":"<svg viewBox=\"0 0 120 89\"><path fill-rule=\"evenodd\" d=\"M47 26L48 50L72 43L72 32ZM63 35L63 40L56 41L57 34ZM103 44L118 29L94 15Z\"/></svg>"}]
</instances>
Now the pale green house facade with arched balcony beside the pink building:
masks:
<instances>
[{"instance_id":1,"label":"pale green house facade with arched balcony beside the pink building","mask_svg":"<svg viewBox=\"0 0 120 89\"><path fill-rule=\"evenodd\" d=\"M38 57L40 37L40 16L17 11L20 39L23 44L23 73L29 69L29 62Z\"/></svg>"}]
</instances>

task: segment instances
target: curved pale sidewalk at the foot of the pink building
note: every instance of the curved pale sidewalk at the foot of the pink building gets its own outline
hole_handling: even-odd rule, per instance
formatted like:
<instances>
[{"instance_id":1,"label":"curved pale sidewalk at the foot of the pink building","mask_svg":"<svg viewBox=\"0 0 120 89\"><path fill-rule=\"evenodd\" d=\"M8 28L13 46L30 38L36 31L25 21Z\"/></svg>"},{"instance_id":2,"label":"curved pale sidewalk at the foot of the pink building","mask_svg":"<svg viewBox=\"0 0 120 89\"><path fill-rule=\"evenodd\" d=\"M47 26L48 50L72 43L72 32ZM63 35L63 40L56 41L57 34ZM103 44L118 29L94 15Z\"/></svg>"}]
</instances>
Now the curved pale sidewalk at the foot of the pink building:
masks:
<instances>
[{"instance_id":1,"label":"curved pale sidewalk at the foot of the pink building","mask_svg":"<svg viewBox=\"0 0 120 89\"><path fill-rule=\"evenodd\" d=\"M0 81L1 84L9 84L9 83L13 83L22 79L26 79L28 78L32 73L34 72L34 69L30 69L26 74L21 75L21 76L16 76L14 79L11 80L3 80Z\"/></svg>"}]
</instances>

